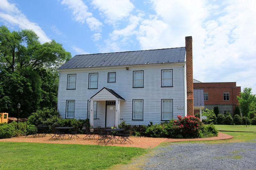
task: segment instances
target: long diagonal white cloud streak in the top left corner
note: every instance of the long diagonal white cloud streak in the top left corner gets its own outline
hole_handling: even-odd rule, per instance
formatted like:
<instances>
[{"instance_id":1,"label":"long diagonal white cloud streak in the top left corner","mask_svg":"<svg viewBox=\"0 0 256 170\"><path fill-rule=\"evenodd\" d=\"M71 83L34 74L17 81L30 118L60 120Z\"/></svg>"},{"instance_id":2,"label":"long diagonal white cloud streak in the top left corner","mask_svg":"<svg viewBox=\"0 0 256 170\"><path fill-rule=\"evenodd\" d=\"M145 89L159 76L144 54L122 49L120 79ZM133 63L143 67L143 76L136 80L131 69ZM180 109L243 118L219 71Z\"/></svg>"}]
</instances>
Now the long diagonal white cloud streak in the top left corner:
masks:
<instances>
[{"instance_id":1,"label":"long diagonal white cloud streak in the top left corner","mask_svg":"<svg viewBox=\"0 0 256 170\"><path fill-rule=\"evenodd\" d=\"M42 28L38 24L29 21L15 4L10 4L7 0L0 0L0 4L0 18L5 23L19 26L21 29L33 30L39 36L39 41L42 43L51 41Z\"/></svg>"}]
</instances>

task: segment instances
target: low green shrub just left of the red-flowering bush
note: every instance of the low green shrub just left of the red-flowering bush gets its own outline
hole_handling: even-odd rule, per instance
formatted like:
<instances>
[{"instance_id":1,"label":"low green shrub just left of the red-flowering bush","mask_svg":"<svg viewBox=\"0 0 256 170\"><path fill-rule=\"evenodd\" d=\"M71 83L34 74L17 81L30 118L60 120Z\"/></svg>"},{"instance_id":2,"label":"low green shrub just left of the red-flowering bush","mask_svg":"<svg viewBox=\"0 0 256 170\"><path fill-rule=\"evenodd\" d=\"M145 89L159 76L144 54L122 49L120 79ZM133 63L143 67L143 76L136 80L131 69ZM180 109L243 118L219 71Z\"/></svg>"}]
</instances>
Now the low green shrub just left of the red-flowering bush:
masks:
<instances>
[{"instance_id":1,"label":"low green shrub just left of the red-flowering bush","mask_svg":"<svg viewBox=\"0 0 256 170\"><path fill-rule=\"evenodd\" d=\"M149 126L145 131L147 137L166 137L167 131L164 129L164 124L155 124Z\"/></svg>"}]
</instances>

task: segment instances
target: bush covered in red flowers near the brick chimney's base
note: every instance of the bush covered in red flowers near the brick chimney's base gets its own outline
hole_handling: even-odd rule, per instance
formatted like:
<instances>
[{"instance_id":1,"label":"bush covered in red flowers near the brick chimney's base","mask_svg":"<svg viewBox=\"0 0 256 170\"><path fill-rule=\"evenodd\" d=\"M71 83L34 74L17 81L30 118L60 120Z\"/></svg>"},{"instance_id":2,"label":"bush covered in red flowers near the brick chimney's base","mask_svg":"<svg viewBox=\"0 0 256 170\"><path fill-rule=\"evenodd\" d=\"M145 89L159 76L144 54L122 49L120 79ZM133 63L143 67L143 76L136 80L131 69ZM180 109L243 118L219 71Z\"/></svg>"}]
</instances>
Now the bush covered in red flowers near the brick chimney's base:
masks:
<instances>
[{"instance_id":1,"label":"bush covered in red flowers near the brick chimney's base","mask_svg":"<svg viewBox=\"0 0 256 170\"><path fill-rule=\"evenodd\" d=\"M179 132L182 137L201 137L200 131L203 123L195 116L185 116L182 118L177 116L178 120L174 121L174 129Z\"/></svg>"}]
</instances>

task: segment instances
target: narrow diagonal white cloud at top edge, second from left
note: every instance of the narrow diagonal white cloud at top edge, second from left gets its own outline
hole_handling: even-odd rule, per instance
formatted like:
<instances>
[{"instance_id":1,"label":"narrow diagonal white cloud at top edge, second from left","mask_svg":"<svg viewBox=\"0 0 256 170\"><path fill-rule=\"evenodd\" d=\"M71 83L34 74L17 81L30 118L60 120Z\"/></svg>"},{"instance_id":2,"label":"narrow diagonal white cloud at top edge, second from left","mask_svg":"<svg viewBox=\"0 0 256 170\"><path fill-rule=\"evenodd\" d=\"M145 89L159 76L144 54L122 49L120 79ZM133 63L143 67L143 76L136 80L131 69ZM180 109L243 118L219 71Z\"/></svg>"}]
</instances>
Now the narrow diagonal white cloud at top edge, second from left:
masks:
<instances>
[{"instance_id":1,"label":"narrow diagonal white cloud at top edge, second from left","mask_svg":"<svg viewBox=\"0 0 256 170\"><path fill-rule=\"evenodd\" d=\"M101 31L103 24L92 17L92 13L88 12L88 7L82 0L63 0L61 4L67 5L68 9L72 11L73 20L81 24L86 22L92 31Z\"/></svg>"}]
</instances>

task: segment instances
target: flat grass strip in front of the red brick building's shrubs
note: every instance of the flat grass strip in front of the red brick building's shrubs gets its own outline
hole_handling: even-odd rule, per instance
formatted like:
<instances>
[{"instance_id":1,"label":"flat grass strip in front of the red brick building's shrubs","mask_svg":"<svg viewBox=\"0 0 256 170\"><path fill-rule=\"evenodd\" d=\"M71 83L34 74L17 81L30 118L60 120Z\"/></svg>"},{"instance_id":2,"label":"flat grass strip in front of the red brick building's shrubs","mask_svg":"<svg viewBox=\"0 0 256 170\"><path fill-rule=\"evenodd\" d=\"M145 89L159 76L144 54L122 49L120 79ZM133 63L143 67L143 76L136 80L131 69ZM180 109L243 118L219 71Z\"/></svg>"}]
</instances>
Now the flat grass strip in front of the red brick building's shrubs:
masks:
<instances>
[{"instance_id":1,"label":"flat grass strip in front of the red brick building's shrubs","mask_svg":"<svg viewBox=\"0 0 256 170\"><path fill-rule=\"evenodd\" d=\"M214 125L218 130L256 132L256 125Z\"/></svg>"}]
</instances>

